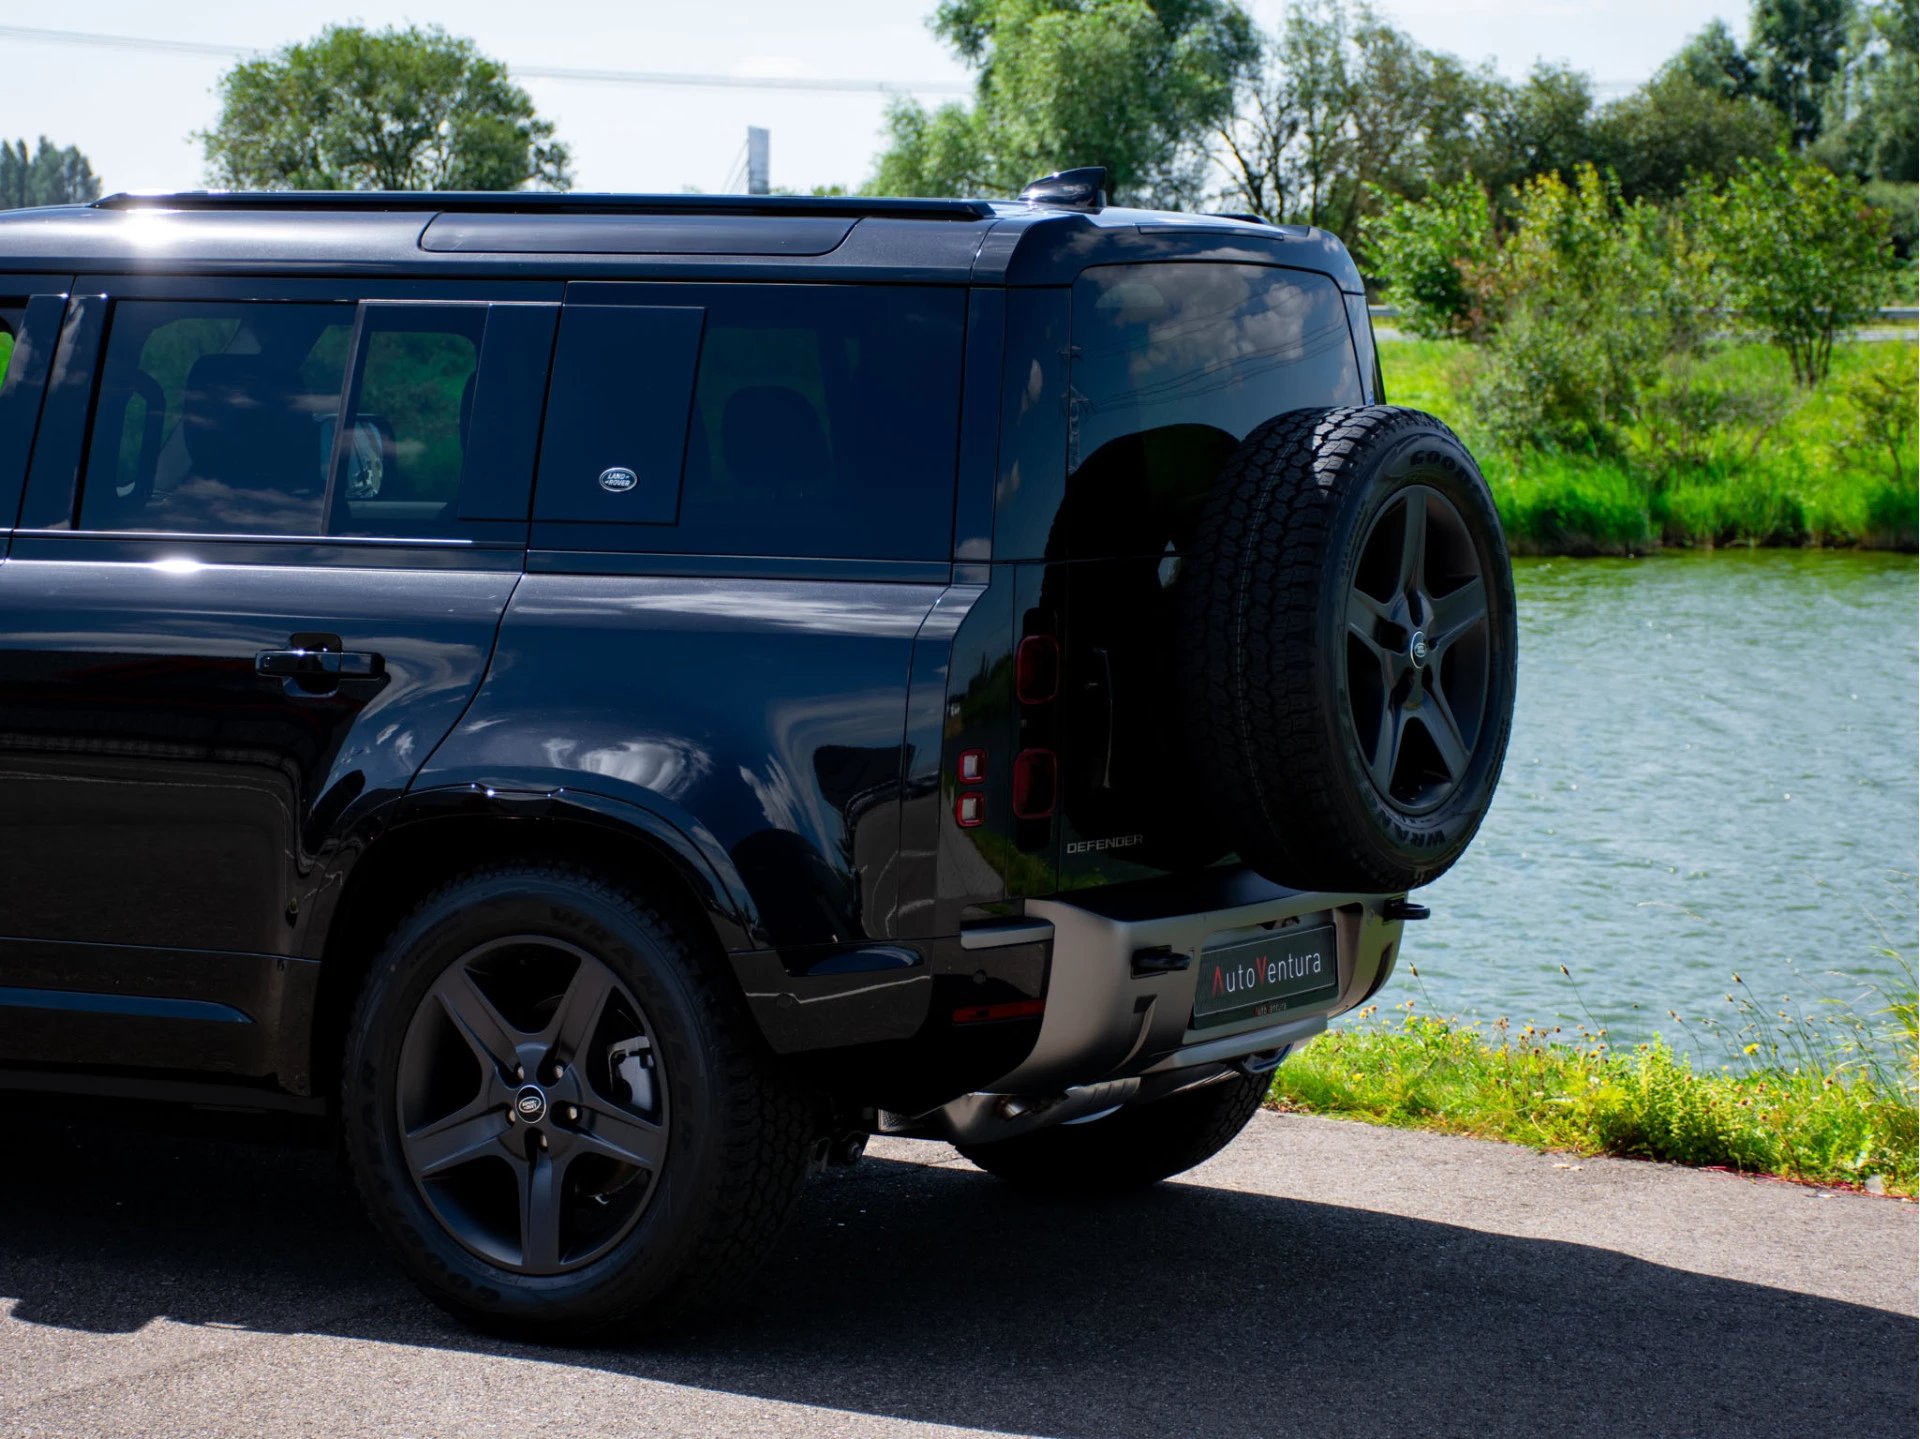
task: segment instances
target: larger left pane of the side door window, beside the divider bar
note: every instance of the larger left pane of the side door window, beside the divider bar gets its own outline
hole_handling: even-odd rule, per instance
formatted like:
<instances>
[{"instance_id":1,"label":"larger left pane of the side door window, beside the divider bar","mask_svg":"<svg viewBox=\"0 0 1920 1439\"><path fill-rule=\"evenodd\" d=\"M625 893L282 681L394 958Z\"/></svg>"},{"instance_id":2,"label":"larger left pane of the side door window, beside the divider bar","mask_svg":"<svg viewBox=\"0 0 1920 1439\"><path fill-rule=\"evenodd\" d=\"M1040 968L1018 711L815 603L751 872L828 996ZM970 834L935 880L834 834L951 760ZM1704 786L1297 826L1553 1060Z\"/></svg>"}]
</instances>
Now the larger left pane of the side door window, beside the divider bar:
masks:
<instances>
[{"instance_id":1,"label":"larger left pane of the side door window, beside the divider bar","mask_svg":"<svg viewBox=\"0 0 1920 1439\"><path fill-rule=\"evenodd\" d=\"M81 526L319 534L353 305L113 305Z\"/></svg>"}]
</instances>

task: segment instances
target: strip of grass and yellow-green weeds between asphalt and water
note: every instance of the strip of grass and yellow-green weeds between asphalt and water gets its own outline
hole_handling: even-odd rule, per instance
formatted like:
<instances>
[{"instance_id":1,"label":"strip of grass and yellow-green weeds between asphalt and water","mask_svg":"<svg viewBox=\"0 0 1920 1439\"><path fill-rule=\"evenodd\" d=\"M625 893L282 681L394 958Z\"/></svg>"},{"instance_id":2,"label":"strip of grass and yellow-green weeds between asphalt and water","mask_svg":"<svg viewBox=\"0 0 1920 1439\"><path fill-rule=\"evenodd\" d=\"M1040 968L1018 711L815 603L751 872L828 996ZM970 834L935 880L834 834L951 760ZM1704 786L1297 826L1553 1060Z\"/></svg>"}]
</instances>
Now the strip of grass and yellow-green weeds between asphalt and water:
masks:
<instances>
[{"instance_id":1,"label":"strip of grass and yellow-green weeds between asphalt and water","mask_svg":"<svg viewBox=\"0 0 1920 1439\"><path fill-rule=\"evenodd\" d=\"M1563 970L1565 972L1565 970ZM1417 978L1417 970L1415 970ZM1515 1030L1377 1007L1288 1059L1267 1103L1572 1155L1722 1166L1914 1195L1920 1032L1912 968L1880 1012L1793 1016L1734 976L1726 1020L1672 1014L1684 1047L1605 1028Z\"/></svg>"}]
</instances>

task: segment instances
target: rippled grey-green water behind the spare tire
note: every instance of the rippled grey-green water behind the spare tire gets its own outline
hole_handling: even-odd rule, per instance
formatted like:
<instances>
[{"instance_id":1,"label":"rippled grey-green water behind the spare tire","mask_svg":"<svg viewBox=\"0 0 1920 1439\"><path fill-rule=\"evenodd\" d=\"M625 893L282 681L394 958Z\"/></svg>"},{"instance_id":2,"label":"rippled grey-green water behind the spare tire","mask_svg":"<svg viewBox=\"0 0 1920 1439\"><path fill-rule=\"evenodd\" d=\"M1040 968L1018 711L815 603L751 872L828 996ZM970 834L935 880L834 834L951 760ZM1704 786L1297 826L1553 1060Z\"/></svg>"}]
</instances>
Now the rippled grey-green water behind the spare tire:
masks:
<instances>
[{"instance_id":1,"label":"rippled grey-green water behind the spare tire","mask_svg":"<svg viewBox=\"0 0 1920 1439\"><path fill-rule=\"evenodd\" d=\"M1572 1034L1561 964L1611 1041L1684 1045L1667 1011L1726 1018L1734 970L1774 1009L1878 1009L1878 951L1914 949L1914 559L1532 559L1515 586L1505 778L1382 1009Z\"/></svg>"}]
</instances>

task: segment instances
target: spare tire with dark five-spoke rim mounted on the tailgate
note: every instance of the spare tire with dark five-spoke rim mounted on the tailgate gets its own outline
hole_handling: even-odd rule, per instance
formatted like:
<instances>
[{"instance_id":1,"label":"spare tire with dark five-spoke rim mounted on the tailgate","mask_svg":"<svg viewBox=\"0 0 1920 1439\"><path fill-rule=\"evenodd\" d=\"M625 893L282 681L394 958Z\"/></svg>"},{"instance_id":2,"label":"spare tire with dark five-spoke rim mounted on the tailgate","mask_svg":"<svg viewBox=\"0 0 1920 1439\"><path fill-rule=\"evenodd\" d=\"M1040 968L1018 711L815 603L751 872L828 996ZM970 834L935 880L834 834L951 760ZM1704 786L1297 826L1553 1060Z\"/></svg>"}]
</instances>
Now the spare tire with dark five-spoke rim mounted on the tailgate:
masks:
<instances>
[{"instance_id":1,"label":"spare tire with dark five-spoke rim mounted on the tailgate","mask_svg":"<svg viewBox=\"0 0 1920 1439\"><path fill-rule=\"evenodd\" d=\"M1513 720L1513 573L1486 480L1413 409L1258 427L1181 576L1188 753L1240 857L1398 891L1467 847Z\"/></svg>"}]
</instances>

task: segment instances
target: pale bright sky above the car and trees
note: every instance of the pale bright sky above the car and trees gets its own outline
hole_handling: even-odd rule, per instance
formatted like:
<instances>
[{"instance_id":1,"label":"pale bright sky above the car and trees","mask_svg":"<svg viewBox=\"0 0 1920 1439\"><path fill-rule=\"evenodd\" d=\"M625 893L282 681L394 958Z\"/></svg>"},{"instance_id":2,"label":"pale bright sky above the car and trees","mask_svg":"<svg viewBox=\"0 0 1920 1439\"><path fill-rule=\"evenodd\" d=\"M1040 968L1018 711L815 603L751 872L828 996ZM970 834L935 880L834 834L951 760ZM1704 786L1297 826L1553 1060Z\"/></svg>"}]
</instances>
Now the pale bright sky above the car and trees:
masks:
<instances>
[{"instance_id":1,"label":"pale bright sky above the car and trees","mask_svg":"<svg viewBox=\"0 0 1920 1439\"><path fill-rule=\"evenodd\" d=\"M1277 25L1284 0L1252 0ZM879 148L885 94L929 104L964 94L968 73L925 27L933 0L65 0L0 6L0 136L77 144L109 190L205 183L190 136L217 113L230 58L27 38L13 27L271 50L332 21L438 23L509 67L670 71L737 79L864 81L858 92L609 85L520 75L574 152L578 190L743 188L749 125L772 131L772 181L804 190L856 184ZM1588 71L1603 96L1651 75L1724 0L1382 0L1421 44L1524 75L1536 60ZM1073 156L1062 156L1071 165Z\"/></svg>"}]
</instances>

